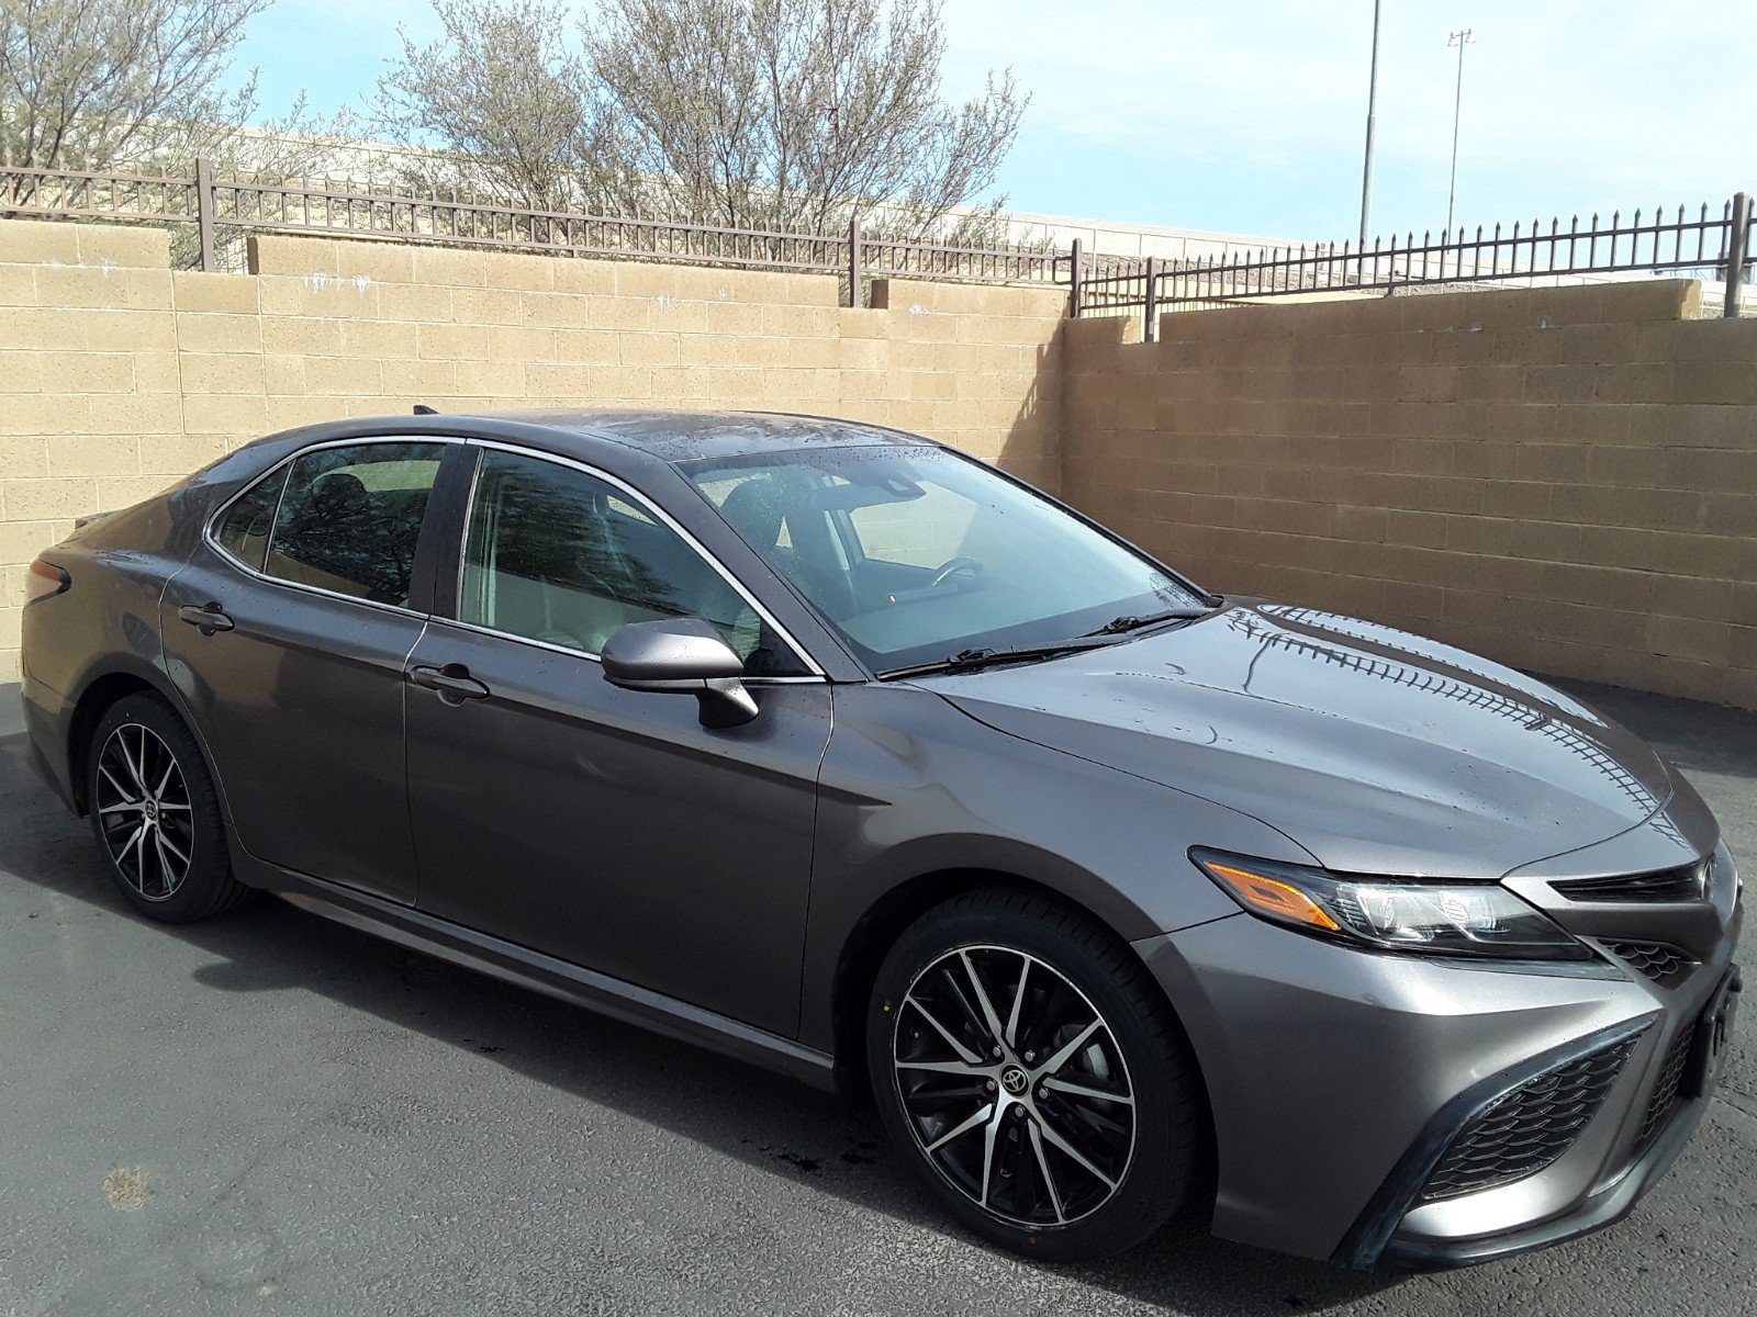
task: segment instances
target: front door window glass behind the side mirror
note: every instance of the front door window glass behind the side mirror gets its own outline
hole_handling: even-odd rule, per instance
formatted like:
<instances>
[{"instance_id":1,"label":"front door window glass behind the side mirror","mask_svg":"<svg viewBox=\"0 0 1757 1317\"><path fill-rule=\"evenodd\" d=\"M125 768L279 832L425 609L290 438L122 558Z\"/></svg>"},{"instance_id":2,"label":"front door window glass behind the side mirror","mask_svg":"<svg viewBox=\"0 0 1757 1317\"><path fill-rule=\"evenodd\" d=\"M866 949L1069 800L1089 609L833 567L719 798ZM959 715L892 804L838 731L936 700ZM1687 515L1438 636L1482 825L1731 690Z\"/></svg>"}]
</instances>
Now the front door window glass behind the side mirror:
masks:
<instances>
[{"instance_id":1,"label":"front door window glass behind the side mirror","mask_svg":"<svg viewBox=\"0 0 1757 1317\"><path fill-rule=\"evenodd\" d=\"M799 673L754 608L675 530L573 467L485 451L459 618L601 653L620 627L698 616L752 674Z\"/></svg>"}]
</instances>

